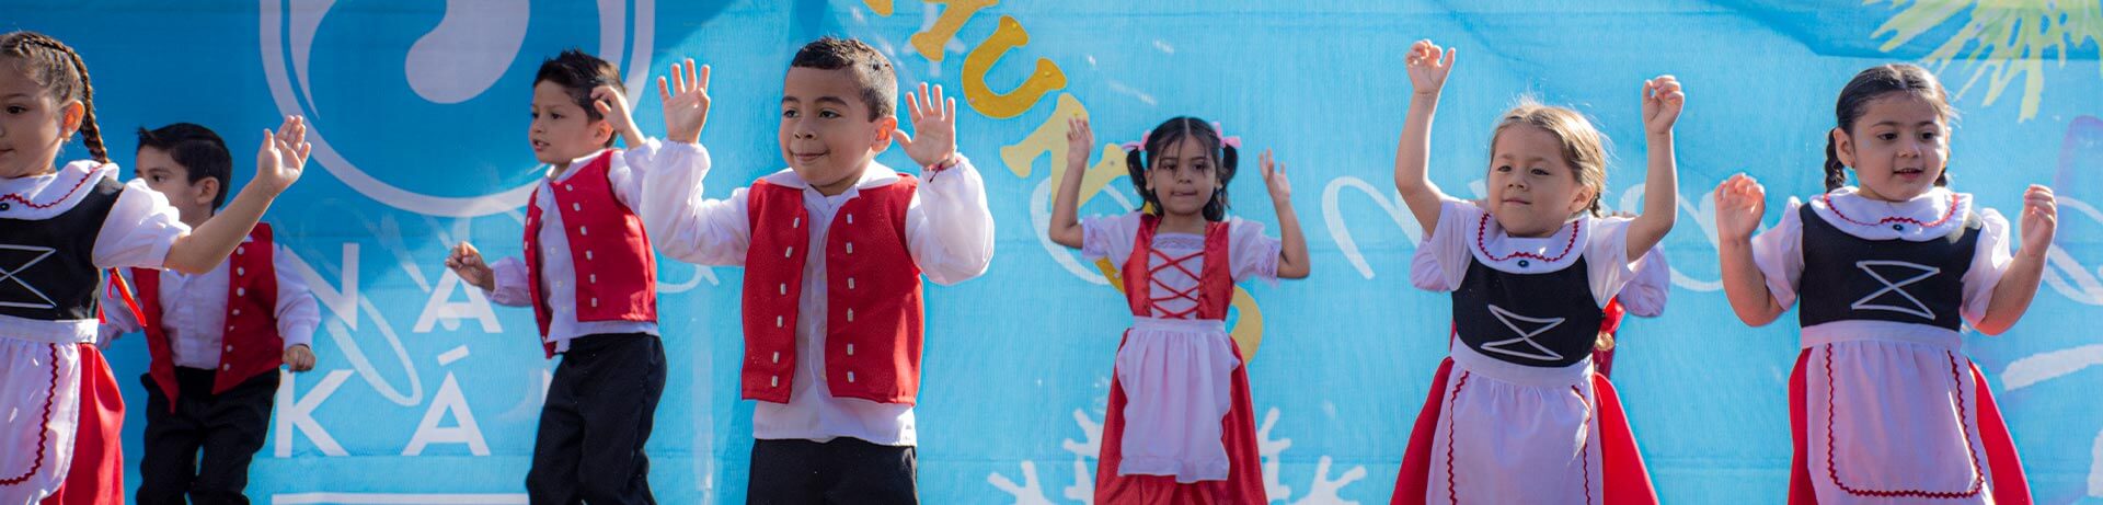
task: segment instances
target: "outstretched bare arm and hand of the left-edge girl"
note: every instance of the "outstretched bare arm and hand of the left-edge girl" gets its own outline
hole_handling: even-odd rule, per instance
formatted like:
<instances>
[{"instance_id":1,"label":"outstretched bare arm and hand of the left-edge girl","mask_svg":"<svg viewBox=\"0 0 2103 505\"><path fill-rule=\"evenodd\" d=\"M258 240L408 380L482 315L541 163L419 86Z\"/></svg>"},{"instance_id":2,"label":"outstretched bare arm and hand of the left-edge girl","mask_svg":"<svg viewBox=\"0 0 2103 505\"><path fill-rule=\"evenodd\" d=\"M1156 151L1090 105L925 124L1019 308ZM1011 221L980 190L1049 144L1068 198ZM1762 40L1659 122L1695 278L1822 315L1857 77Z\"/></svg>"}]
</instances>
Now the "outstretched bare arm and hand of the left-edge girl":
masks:
<instances>
[{"instance_id":1,"label":"outstretched bare arm and hand of the left-edge girl","mask_svg":"<svg viewBox=\"0 0 2103 505\"><path fill-rule=\"evenodd\" d=\"M206 219L204 225L191 229L187 236L175 238L168 246L168 259L164 267L183 274L204 274L227 261L233 255L233 246L248 238L248 229L263 219L263 210L269 210L271 200L292 187L299 181L301 170L307 166L307 154L313 145L307 143L307 120L301 116L286 116L284 124L275 133L263 130L263 149L257 149L257 179L242 187L242 194L233 196L233 202L225 210Z\"/></svg>"}]
</instances>

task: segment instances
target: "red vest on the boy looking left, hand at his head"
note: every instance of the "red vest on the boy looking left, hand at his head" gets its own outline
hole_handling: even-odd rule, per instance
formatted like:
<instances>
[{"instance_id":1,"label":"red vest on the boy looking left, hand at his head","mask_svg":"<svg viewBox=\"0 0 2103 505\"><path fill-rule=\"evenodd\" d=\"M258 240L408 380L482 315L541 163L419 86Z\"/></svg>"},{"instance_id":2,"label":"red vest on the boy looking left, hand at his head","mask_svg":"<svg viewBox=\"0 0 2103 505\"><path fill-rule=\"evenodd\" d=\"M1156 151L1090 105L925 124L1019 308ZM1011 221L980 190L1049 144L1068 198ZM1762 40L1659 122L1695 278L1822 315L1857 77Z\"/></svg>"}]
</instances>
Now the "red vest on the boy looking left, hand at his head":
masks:
<instances>
[{"instance_id":1,"label":"red vest on the boy looking left, hand at his head","mask_svg":"<svg viewBox=\"0 0 2103 505\"><path fill-rule=\"evenodd\" d=\"M570 242L570 265L576 278L576 320L578 322L654 322L656 320L656 255L650 255L650 238L644 236L644 219L614 198L614 187L606 181L614 149L599 152L576 175L553 183L555 213L566 225L564 238ZM532 284L532 316L540 324L540 349L555 358L555 343L547 339L547 324L553 311L547 307L547 292L540 292L540 189L534 189L526 204L526 282Z\"/></svg>"}]
</instances>

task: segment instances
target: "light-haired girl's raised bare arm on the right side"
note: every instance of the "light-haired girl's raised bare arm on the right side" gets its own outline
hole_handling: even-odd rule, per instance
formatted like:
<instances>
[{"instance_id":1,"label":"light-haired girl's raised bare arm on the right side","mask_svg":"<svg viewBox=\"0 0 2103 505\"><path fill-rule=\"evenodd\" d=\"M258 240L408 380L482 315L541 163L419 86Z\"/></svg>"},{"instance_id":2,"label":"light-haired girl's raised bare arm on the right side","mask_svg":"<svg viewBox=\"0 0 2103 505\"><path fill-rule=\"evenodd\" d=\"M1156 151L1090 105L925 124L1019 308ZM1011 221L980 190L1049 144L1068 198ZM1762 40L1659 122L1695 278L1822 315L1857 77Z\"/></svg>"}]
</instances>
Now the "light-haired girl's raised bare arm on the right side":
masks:
<instances>
[{"instance_id":1,"label":"light-haired girl's raised bare arm on the right side","mask_svg":"<svg viewBox=\"0 0 2103 505\"><path fill-rule=\"evenodd\" d=\"M1672 156L1672 124L1687 105L1687 93L1672 76L1642 82L1642 130L1651 143L1651 170L1642 179L1642 215L1628 223L1628 259L1642 259L1672 231L1680 215L1678 162Z\"/></svg>"}]
</instances>

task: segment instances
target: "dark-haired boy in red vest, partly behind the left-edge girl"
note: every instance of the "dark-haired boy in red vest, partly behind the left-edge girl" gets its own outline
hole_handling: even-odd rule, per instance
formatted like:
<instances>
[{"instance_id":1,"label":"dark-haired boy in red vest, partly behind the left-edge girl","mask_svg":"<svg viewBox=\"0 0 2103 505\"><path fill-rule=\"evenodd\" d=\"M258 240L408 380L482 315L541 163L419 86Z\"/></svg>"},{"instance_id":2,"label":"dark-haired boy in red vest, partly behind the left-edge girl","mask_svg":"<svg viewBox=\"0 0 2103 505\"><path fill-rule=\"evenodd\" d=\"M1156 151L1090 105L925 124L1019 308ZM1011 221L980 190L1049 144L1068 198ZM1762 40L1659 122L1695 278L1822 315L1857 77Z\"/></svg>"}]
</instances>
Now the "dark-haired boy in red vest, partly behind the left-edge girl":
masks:
<instances>
[{"instance_id":1,"label":"dark-haired boy in red vest, partly behind the left-edge girl","mask_svg":"<svg viewBox=\"0 0 2103 505\"><path fill-rule=\"evenodd\" d=\"M139 179L198 227L227 202L233 156L212 130L177 122L139 130ZM130 269L139 314L122 290L103 290L107 345L145 330L145 457L139 503L248 503L248 463L263 448L278 396L278 366L313 370L322 311L284 265L267 223L257 223L217 269ZM143 318L143 320L141 320Z\"/></svg>"}]
</instances>

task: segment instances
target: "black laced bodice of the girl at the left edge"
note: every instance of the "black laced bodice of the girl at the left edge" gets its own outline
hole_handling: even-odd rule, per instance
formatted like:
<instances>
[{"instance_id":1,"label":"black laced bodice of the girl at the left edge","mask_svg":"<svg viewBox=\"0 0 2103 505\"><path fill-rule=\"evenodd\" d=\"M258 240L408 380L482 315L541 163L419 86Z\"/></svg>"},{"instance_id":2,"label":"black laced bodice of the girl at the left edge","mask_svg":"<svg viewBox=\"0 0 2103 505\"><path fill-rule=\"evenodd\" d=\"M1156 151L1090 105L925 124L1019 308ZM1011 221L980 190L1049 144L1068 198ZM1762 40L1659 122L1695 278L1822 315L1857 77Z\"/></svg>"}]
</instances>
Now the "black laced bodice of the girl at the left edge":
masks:
<instances>
[{"instance_id":1,"label":"black laced bodice of the girl at the left edge","mask_svg":"<svg viewBox=\"0 0 2103 505\"><path fill-rule=\"evenodd\" d=\"M0 314L27 320L93 320L101 269L95 236L124 185L101 179L74 208L50 219L0 217Z\"/></svg>"}]
</instances>

